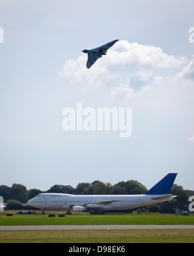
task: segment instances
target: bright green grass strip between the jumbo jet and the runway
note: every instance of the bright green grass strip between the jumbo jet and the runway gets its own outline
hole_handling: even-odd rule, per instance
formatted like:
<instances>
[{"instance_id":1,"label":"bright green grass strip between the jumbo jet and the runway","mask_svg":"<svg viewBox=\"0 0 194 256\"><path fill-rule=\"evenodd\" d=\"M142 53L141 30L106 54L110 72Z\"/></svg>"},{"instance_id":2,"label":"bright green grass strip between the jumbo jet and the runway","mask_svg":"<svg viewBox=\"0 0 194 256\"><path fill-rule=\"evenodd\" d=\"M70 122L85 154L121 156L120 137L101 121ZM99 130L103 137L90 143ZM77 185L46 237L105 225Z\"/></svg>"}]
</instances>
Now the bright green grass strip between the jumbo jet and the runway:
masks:
<instances>
[{"instance_id":1,"label":"bright green grass strip between the jumbo jet and the runway","mask_svg":"<svg viewBox=\"0 0 194 256\"><path fill-rule=\"evenodd\" d=\"M0 215L0 226L39 225L194 225L194 216L175 215Z\"/></svg>"}]
</instances>

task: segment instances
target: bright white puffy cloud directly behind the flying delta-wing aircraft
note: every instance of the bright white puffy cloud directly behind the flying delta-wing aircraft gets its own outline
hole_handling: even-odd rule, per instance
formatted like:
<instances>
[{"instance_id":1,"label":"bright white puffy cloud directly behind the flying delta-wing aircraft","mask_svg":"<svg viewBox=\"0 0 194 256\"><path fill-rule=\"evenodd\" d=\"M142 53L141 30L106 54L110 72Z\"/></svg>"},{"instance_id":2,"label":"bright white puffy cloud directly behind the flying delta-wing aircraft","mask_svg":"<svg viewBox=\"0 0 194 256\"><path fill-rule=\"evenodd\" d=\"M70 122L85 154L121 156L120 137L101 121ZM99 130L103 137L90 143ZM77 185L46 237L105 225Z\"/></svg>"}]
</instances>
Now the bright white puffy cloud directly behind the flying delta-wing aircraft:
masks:
<instances>
[{"instance_id":1,"label":"bright white puffy cloud directly behind the flying delta-wing aircraft","mask_svg":"<svg viewBox=\"0 0 194 256\"><path fill-rule=\"evenodd\" d=\"M84 87L98 87L107 82L113 87L125 84L120 90L128 86L131 93L131 88L138 91L160 76L177 74L188 60L184 56L168 55L160 47L120 40L91 69L86 68L86 62L87 54L67 60L61 76Z\"/></svg>"}]
</instances>

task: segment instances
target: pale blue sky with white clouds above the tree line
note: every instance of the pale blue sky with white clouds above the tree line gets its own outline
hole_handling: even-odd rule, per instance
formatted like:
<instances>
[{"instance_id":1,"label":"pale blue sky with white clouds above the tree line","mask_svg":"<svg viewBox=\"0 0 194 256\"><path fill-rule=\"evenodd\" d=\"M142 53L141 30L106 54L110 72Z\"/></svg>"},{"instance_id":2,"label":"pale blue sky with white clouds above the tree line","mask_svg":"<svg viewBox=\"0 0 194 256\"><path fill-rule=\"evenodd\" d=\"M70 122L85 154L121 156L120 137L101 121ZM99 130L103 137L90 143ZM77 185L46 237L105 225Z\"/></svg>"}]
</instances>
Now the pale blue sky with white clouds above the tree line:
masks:
<instances>
[{"instance_id":1,"label":"pale blue sky with white clouds above the tree line","mask_svg":"<svg viewBox=\"0 0 194 256\"><path fill-rule=\"evenodd\" d=\"M0 185L137 180L194 190L192 0L0 0ZM2 34L0 35L2 38ZM91 69L87 54L119 40ZM132 109L132 134L63 129L64 108Z\"/></svg>"}]
</instances>

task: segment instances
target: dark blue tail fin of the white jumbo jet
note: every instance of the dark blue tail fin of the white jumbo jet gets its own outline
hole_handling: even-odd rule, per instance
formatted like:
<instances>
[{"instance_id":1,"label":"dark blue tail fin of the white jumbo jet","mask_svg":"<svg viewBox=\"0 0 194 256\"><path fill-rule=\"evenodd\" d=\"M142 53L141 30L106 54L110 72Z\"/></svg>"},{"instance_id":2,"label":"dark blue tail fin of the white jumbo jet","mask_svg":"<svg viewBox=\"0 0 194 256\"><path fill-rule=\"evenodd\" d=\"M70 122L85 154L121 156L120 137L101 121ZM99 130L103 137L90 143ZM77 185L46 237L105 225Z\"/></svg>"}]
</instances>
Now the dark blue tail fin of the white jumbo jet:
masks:
<instances>
[{"instance_id":1,"label":"dark blue tail fin of the white jumbo jet","mask_svg":"<svg viewBox=\"0 0 194 256\"><path fill-rule=\"evenodd\" d=\"M169 173L145 194L169 194L177 173Z\"/></svg>"}]
</instances>

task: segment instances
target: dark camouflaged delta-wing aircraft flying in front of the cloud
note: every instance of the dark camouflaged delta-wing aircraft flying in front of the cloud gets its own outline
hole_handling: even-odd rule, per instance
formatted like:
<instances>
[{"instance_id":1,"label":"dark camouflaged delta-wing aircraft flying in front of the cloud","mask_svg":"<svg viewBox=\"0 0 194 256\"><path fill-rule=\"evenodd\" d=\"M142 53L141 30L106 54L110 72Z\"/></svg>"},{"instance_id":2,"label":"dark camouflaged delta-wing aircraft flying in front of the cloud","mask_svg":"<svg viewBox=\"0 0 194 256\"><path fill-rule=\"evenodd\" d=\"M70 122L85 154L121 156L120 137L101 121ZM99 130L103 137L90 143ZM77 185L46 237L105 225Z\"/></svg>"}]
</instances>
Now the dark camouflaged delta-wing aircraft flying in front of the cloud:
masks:
<instances>
[{"instance_id":1,"label":"dark camouflaged delta-wing aircraft flying in front of the cloud","mask_svg":"<svg viewBox=\"0 0 194 256\"><path fill-rule=\"evenodd\" d=\"M91 50L83 50L82 52L87 53L88 59L87 59L87 68L89 69L98 58L102 58L102 55L106 55L107 51L111 46L114 45L118 40L110 41L109 43L106 43L105 45L102 45L100 47L91 49Z\"/></svg>"}]
</instances>

